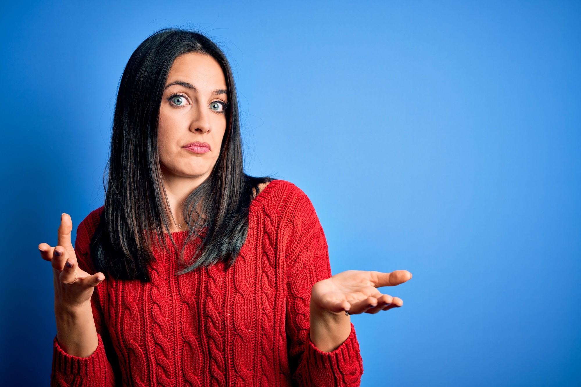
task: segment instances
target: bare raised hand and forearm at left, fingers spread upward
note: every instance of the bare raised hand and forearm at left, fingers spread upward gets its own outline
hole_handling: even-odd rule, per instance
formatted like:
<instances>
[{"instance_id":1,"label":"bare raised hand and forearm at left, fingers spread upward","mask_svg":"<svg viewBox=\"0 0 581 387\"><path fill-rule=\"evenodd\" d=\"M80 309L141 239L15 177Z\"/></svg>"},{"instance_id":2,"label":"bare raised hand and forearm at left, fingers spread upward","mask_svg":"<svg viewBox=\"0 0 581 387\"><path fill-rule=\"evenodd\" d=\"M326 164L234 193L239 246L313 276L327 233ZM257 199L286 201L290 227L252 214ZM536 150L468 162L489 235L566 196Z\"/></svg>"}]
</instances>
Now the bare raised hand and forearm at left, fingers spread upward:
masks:
<instances>
[{"instance_id":1,"label":"bare raised hand and forearm at left, fingers spread upward","mask_svg":"<svg viewBox=\"0 0 581 387\"><path fill-rule=\"evenodd\" d=\"M91 295L105 275L89 274L78 267L71 243L73 222L68 214L60 216L58 245L38 245L42 259L51 261L55 286L56 335L64 352L88 357L98 346Z\"/></svg>"}]
</instances>

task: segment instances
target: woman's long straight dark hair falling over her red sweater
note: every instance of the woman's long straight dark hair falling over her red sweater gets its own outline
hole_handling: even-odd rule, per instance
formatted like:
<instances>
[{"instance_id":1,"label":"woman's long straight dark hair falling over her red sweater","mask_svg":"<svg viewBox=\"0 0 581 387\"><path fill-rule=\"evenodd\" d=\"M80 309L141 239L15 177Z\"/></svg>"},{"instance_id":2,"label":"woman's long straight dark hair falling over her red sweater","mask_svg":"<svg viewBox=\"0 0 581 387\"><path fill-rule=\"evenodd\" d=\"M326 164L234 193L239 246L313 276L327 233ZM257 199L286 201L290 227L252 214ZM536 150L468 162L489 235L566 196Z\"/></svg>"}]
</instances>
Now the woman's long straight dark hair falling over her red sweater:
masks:
<instances>
[{"instance_id":1,"label":"woman's long straight dark hair falling over her red sweater","mask_svg":"<svg viewBox=\"0 0 581 387\"><path fill-rule=\"evenodd\" d=\"M224 52L205 35L166 28L150 35L125 66L119 84L111 136L105 208L91 241L98 271L117 279L149 281L153 243L167 247L168 202L157 154L157 123L163 89L174 60L184 53L210 55L222 67L228 87L227 126L210 176L187 198L184 246L200 238L193 260L182 255L181 273L224 261L231 266L248 234L248 212L258 185L243 171L238 99ZM167 232L167 234L164 234ZM183 250L182 250L183 252Z\"/></svg>"}]
</instances>

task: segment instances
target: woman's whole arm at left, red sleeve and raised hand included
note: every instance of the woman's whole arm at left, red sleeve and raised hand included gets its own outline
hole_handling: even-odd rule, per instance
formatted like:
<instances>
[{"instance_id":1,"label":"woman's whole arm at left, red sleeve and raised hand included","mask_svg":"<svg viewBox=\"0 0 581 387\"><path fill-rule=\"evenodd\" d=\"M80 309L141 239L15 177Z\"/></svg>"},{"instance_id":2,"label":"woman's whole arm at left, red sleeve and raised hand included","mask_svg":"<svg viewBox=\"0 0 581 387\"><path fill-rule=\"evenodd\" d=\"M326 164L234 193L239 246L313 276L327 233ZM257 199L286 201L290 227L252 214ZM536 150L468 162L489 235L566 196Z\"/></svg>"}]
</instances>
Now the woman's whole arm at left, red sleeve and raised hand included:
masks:
<instances>
[{"instance_id":1,"label":"woman's whole arm at left, red sleeve and raised hand included","mask_svg":"<svg viewBox=\"0 0 581 387\"><path fill-rule=\"evenodd\" d=\"M61 217L58 246L52 248L46 243L38 246L42 258L51 261L53 268L57 327L53 350L53 386L114 385L103 338L95 324L94 314L99 316L102 313L98 306L91 303L94 288L105 279L105 275L91 275L85 271L89 270L88 220L78 228L77 245L80 248L77 251L70 242L72 222L67 214ZM86 243L79 243L79 238L83 237L87 239ZM98 320L102 321L102 318Z\"/></svg>"}]
</instances>

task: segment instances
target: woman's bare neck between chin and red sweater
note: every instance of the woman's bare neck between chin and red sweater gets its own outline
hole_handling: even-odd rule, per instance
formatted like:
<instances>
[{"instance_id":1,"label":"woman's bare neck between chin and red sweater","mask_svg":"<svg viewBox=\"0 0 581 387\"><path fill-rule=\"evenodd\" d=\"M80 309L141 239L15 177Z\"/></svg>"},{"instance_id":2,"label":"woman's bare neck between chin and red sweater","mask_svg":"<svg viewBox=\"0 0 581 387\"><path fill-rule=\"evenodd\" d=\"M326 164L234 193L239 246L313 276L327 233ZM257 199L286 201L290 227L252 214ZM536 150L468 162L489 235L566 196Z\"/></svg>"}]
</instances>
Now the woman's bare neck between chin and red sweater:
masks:
<instances>
[{"instance_id":1,"label":"woman's bare neck between chin and red sweater","mask_svg":"<svg viewBox=\"0 0 581 387\"><path fill-rule=\"evenodd\" d=\"M199 187L204 182L210 172L195 176L184 177L166 173L162 170L163 185L166 189L167 202L170 206L170 232L188 230L187 225L184 224L184 203L192 191ZM179 227L181 224L181 228Z\"/></svg>"}]
</instances>

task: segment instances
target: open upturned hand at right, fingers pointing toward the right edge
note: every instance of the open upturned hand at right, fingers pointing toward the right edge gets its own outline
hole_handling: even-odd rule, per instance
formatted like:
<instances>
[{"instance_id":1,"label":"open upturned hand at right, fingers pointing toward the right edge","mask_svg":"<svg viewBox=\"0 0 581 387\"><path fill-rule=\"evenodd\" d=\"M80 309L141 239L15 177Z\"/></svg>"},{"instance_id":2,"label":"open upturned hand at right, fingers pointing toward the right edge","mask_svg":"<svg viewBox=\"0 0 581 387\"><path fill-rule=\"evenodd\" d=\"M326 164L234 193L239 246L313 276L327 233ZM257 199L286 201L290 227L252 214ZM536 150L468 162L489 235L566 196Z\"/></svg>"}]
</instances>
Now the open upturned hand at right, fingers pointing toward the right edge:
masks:
<instances>
[{"instance_id":1,"label":"open upturned hand at right, fingers pointing toward the right edge","mask_svg":"<svg viewBox=\"0 0 581 387\"><path fill-rule=\"evenodd\" d=\"M311 305L338 313L378 313L403 305L400 298L382 294L377 288L396 286L411 278L407 270L391 273L347 270L317 282L311 289Z\"/></svg>"}]
</instances>

